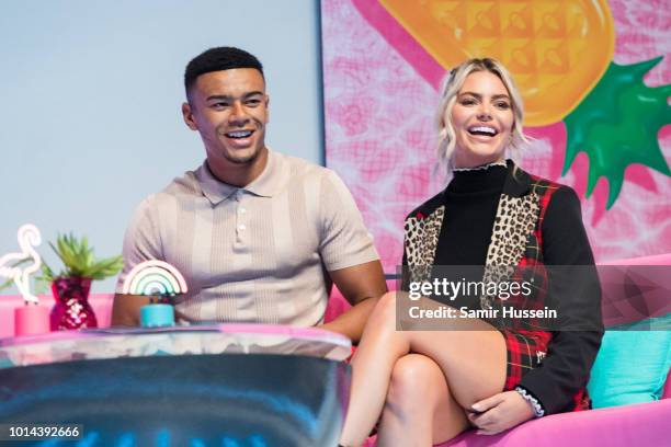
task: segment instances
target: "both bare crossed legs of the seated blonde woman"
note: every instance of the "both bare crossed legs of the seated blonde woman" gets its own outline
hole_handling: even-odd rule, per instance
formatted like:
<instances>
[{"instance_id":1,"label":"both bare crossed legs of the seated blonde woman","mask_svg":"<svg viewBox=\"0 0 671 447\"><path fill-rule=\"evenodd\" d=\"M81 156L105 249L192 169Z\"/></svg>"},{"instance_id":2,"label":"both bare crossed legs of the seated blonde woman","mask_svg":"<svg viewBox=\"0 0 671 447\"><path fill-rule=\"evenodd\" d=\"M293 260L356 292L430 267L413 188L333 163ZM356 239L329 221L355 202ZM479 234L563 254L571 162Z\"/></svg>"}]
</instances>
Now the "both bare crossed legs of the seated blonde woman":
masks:
<instances>
[{"instance_id":1,"label":"both bare crossed legs of the seated blonde woman","mask_svg":"<svg viewBox=\"0 0 671 447\"><path fill-rule=\"evenodd\" d=\"M352 359L352 391L341 436L344 446L360 446L383 410L380 446L399 445L394 436L401 431L410 442L401 445L430 446L446 440L468 426L456 405L468 409L503 389L507 352L499 331L478 319L445 320L444 331L396 331L396 299L397 293L380 298ZM440 306L431 300L421 305ZM411 353L428 358L408 356ZM436 387L435 402L429 400L428 405L434 417L423 415L423 423L418 423L419 414L414 417L406 408L418 404L410 399L412 381L421 394L427 394L429 386Z\"/></svg>"}]
</instances>

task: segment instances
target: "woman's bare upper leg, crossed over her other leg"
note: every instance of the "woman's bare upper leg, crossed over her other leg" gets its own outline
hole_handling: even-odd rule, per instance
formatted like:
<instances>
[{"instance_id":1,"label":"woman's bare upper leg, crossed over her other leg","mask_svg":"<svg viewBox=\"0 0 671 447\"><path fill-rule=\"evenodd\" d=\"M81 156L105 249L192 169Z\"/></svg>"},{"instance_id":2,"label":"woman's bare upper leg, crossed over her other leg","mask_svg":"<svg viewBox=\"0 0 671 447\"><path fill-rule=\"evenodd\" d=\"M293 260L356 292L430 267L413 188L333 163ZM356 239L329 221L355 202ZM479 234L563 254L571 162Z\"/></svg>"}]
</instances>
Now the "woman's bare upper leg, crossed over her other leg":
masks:
<instances>
[{"instance_id":1,"label":"woman's bare upper leg, crossed over her other leg","mask_svg":"<svg viewBox=\"0 0 671 447\"><path fill-rule=\"evenodd\" d=\"M437 303L427 300L424 306ZM379 299L352 359L352 391L340 444L359 446L366 439L384 408L394 365L410 352L441 367L463 408L503 389L507 354L501 333L477 319L446 320L445 328L450 330L396 331L396 294Z\"/></svg>"}]
</instances>

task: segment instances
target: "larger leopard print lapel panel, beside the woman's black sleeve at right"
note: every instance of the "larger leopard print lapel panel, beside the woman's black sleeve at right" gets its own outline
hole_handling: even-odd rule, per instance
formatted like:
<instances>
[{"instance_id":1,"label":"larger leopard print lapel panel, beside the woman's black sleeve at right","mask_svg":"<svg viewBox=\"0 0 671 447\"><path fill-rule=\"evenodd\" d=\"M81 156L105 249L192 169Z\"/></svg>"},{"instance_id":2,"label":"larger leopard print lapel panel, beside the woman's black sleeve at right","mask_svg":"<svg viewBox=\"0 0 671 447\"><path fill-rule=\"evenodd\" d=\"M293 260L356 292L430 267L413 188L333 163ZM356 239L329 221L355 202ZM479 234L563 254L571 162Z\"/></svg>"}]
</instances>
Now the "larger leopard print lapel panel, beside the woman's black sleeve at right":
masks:
<instances>
[{"instance_id":1,"label":"larger leopard print lapel panel, beside the woman's black sleeve at right","mask_svg":"<svg viewBox=\"0 0 671 447\"><path fill-rule=\"evenodd\" d=\"M532 192L522 197L501 194L485 262L482 282L508 280L524 255L541 213L539 195ZM493 296L480 297L480 307L491 309Z\"/></svg>"}]
</instances>

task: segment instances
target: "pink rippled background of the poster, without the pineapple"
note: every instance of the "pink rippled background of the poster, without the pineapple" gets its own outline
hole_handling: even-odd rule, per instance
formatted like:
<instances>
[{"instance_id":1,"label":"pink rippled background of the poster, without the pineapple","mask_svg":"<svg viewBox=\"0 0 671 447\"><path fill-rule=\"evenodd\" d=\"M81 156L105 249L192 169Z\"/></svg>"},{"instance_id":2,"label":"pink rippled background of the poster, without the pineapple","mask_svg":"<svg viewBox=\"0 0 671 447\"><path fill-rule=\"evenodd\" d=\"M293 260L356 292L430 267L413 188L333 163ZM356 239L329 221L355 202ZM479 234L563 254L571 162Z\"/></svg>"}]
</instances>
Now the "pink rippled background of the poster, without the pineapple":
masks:
<instances>
[{"instance_id":1,"label":"pink rippled background of the poster, without the pineapple","mask_svg":"<svg viewBox=\"0 0 671 447\"><path fill-rule=\"evenodd\" d=\"M671 83L668 2L618 0L609 7L615 28L613 60L628 65L663 56L645 82ZM403 217L444 187L434 162L434 113L444 70L378 0L322 0L321 11L327 165L351 188L385 271L391 273L402 254ZM606 210L605 179L584 198L584 152L561 176L564 122L525 131L535 140L518 157L520 164L576 188L599 261L671 252L670 176L630 164L617 199ZM668 163L671 126L659 130L658 140Z\"/></svg>"}]
</instances>

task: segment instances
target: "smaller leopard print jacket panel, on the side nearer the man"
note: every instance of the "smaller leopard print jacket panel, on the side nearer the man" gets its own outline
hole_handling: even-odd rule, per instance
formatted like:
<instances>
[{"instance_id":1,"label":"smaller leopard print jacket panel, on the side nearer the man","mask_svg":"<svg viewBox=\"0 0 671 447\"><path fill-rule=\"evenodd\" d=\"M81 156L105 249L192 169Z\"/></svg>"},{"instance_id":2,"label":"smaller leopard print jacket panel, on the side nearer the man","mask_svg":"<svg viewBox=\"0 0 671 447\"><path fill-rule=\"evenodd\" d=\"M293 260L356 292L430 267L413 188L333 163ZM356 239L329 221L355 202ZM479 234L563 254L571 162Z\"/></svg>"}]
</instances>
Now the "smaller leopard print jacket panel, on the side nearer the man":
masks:
<instances>
[{"instance_id":1,"label":"smaller leopard print jacket panel, on the side nearer the man","mask_svg":"<svg viewBox=\"0 0 671 447\"><path fill-rule=\"evenodd\" d=\"M424 282L431 277L444 215L445 206L440 206L427 217L406 219L405 250L412 282Z\"/></svg>"}]
</instances>

